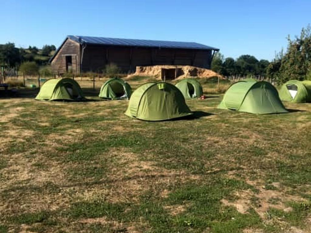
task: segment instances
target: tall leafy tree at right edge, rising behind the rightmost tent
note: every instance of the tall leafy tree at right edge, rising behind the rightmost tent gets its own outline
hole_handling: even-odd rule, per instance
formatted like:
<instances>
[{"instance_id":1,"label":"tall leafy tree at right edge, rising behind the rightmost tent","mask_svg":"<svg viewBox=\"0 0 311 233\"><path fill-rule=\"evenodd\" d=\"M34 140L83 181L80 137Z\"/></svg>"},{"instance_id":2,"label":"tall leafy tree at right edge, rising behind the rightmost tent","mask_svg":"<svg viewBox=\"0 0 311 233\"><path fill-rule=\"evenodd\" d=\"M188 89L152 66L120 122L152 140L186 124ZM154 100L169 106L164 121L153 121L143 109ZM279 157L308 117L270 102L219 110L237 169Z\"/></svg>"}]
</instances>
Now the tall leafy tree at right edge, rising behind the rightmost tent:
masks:
<instances>
[{"instance_id":1,"label":"tall leafy tree at right edge, rising behind the rightmost tent","mask_svg":"<svg viewBox=\"0 0 311 233\"><path fill-rule=\"evenodd\" d=\"M300 36L287 37L286 53L283 50L267 67L267 75L282 84L288 80L311 80L311 27L301 30Z\"/></svg>"}]
</instances>

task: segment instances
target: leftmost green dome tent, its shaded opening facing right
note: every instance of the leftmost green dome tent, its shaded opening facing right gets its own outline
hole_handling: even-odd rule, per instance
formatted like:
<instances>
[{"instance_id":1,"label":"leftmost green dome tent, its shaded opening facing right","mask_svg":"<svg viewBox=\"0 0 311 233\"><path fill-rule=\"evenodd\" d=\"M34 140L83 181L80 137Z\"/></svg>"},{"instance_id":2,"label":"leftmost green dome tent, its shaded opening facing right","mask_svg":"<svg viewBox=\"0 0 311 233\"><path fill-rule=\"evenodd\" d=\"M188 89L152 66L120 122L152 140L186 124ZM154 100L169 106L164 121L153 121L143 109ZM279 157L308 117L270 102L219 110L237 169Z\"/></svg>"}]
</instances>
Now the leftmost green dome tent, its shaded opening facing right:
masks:
<instances>
[{"instance_id":1,"label":"leftmost green dome tent, its shaded opening facing right","mask_svg":"<svg viewBox=\"0 0 311 233\"><path fill-rule=\"evenodd\" d=\"M80 85L73 79L50 79L41 87L36 100L85 100Z\"/></svg>"}]
</instances>

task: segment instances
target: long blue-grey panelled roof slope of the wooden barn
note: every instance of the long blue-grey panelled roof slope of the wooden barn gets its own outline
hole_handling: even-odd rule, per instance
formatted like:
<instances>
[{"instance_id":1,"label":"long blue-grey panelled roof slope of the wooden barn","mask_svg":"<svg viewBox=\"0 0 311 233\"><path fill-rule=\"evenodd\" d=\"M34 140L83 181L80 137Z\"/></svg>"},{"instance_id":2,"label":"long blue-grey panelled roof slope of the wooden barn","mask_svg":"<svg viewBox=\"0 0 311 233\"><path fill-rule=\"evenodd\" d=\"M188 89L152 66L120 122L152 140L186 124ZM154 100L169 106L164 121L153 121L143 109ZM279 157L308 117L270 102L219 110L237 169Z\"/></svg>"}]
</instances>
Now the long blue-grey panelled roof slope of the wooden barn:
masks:
<instances>
[{"instance_id":1,"label":"long blue-grey panelled roof slope of the wooden barn","mask_svg":"<svg viewBox=\"0 0 311 233\"><path fill-rule=\"evenodd\" d=\"M177 42L177 41L161 41L161 40L138 40L138 39L119 39L92 36L68 36L68 38L86 44L102 44L117 46L134 46L134 47L152 47L152 48L184 48L184 49L204 49L219 50L204 44L195 42Z\"/></svg>"}]
</instances>

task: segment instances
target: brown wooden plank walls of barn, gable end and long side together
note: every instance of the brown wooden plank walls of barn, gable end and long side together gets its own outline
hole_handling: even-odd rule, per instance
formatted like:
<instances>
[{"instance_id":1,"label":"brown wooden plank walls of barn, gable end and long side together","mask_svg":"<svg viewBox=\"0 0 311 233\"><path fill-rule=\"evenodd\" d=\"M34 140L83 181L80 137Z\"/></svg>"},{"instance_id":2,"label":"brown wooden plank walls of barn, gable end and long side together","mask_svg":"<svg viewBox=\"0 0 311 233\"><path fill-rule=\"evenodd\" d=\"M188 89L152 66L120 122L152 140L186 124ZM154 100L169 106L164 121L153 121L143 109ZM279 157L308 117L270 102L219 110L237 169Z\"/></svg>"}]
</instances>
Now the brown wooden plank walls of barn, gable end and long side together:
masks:
<instances>
[{"instance_id":1,"label":"brown wooden plank walls of barn, gable end and long side together","mask_svg":"<svg viewBox=\"0 0 311 233\"><path fill-rule=\"evenodd\" d=\"M81 47L70 39L67 39L54 57L52 68L54 72L66 72L66 54L77 54L72 57L72 69L77 74L87 71L101 73L105 65L114 63L122 72L134 72L136 66L152 65L190 65L201 68L210 68L211 50L193 50L176 48L141 48L87 44L81 61Z\"/></svg>"}]
</instances>

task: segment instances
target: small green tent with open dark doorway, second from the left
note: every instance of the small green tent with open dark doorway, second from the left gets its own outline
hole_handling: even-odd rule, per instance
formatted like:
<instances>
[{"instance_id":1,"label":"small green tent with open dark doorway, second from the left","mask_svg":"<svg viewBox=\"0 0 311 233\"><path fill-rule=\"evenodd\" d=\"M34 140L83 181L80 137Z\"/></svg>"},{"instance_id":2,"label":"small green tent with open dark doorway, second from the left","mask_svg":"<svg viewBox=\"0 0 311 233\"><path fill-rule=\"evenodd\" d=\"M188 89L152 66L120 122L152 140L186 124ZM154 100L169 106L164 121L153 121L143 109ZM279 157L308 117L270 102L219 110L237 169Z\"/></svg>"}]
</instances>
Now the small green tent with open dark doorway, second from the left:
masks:
<instances>
[{"instance_id":1,"label":"small green tent with open dark doorway, second from the left","mask_svg":"<svg viewBox=\"0 0 311 233\"><path fill-rule=\"evenodd\" d=\"M114 78L107 80L100 88L99 97L107 99L129 99L132 88L122 79Z\"/></svg>"}]
</instances>

